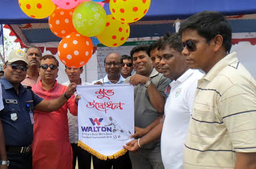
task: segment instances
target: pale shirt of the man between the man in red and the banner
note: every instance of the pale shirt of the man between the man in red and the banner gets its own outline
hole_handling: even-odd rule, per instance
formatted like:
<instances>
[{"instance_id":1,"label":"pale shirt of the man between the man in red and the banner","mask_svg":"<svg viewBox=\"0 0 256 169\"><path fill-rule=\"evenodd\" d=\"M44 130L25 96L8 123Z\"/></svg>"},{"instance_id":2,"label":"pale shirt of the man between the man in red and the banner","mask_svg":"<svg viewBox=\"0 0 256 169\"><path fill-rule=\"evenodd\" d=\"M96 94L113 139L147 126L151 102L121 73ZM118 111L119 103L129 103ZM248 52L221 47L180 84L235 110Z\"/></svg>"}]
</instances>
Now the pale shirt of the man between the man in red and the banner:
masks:
<instances>
[{"instance_id":1,"label":"pale shirt of the man between the man in red and the banner","mask_svg":"<svg viewBox=\"0 0 256 169\"><path fill-rule=\"evenodd\" d=\"M69 86L70 81L62 83L62 85ZM90 85L91 83L81 81L82 86ZM75 92L74 95L77 95ZM78 143L78 121L77 116L72 115L69 110L67 110L67 120L69 122L69 141L71 144Z\"/></svg>"}]
</instances>

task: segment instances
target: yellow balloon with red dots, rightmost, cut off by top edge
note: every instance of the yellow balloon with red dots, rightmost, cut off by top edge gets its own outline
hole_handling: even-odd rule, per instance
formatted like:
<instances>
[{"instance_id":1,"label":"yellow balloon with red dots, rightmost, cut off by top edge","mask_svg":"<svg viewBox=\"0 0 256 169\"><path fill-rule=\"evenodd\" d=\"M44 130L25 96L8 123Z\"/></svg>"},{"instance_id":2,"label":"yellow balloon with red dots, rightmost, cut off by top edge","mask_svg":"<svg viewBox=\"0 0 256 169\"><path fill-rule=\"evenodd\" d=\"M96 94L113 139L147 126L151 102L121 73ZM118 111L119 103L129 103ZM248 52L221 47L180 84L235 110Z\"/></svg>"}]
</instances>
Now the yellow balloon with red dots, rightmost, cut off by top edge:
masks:
<instances>
[{"instance_id":1,"label":"yellow balloon with red dots, rightmost, cut off by top edge","mask_svg":"<svg viewBox=\"0 0 256 169\"><path fill-rule=\"evenodd\" d=\"M133 23L140 20L150 8L150 0L111 0L109 9L117 20Z\"/></svg>"}]
</instances>

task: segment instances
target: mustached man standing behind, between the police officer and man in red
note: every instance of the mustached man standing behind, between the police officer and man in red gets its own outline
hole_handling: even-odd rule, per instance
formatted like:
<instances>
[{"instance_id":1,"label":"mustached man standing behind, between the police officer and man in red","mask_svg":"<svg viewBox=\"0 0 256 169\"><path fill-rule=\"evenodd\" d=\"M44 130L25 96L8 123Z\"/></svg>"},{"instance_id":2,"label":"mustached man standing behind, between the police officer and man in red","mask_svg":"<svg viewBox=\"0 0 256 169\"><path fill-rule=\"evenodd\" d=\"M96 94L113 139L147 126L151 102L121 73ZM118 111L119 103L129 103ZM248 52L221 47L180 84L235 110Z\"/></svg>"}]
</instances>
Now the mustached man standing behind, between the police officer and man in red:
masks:
<instances>
[{"instance_id":1,"label":"mustached man standing behind, between the police officer and man in red","mask_svg":"<svg viewBox=\"0 0 256 169\"><path fill-rule=\"evenodd\" d=\"M38 47L31 46L25 50L27 53L27 62L29 63L29 68L27 69L26 79L23 80L22 84L25 86L32 86L38 83L40 76L38 74L38 67L40 66L40 58L42 57L42 52Z\"/></svg>"}]
</instances>

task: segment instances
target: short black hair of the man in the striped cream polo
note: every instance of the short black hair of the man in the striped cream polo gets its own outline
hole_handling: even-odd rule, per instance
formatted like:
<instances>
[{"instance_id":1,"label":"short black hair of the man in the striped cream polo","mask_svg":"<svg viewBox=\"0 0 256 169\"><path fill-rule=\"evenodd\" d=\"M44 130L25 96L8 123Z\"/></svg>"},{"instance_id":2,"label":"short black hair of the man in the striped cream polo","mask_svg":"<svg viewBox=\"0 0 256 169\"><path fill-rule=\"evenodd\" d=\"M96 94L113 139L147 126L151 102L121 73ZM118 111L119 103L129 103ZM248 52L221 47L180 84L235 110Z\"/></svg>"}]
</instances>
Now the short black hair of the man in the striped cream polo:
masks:
<instances>
[{"instance_id":1,"label":"short black hair of the man in the striped cream polo","mask_svg":"<svg viewBox=\"0 0 256 169\"><path fill-rule=\"evenodd\" d=\"M222 46L227 52L232 47L232 30L225 17L216 11L204 11L193 14L180 24L179 33L187 29L196 30L198 35L210 42L216 35L223 37Z\"/></svg>"}]
</instances>

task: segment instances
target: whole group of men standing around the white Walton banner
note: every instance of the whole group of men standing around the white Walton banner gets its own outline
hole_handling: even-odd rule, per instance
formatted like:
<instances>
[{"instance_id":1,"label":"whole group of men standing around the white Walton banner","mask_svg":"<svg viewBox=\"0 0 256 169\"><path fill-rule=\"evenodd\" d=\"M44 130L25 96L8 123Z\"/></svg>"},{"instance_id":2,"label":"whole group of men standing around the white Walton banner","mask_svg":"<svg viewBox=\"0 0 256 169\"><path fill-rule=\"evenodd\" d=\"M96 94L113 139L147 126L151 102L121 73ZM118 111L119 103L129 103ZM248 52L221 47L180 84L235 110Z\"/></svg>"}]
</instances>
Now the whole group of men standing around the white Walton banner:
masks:
<instances>
[{"instance_id":1,"label":"whole group of men standing around the white Walton banner","mask_svg":"<svg viewBox=\"0 0 256 169\"><path fill-rule=\"evenodd\" d=\"M106 76L92 83L83 67L65 67L59 84L54 56L13 50L0 80L0 168L81 169L93 159L94 169L255 169L256 82L231 41L221 13L200 12L130 56L109 53ZM134 86L134 140L125 155L100 160L77 146L75 88L119 83Z\"/></svg>"}]
</instances>

